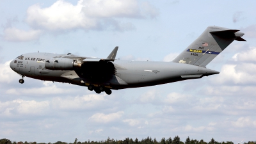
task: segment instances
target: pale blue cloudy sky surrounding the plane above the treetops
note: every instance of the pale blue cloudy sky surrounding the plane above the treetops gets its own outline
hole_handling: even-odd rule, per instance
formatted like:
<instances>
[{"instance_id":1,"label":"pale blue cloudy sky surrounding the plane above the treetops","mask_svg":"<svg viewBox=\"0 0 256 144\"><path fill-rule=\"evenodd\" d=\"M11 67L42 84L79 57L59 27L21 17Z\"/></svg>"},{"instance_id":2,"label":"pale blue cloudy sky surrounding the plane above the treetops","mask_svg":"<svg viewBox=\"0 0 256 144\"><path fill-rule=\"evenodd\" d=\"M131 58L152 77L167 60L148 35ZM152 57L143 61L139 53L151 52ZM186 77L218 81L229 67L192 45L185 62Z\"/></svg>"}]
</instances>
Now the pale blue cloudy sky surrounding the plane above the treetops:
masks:
<instances>
[{"instance_id":1,"label":"pale blue cloudy sky surrounding the plane above the treetops","mask_svg":"<svg viewBox=\"0 0 256 144\"><path fill-rule=\"evenodd\" d=\"M0 139L256 141L256 1L0 0ZM207 68L220 74L97 94L13 72L20 54L172 61L207 26L239 29Z\"/></svg>"}]
</instances>

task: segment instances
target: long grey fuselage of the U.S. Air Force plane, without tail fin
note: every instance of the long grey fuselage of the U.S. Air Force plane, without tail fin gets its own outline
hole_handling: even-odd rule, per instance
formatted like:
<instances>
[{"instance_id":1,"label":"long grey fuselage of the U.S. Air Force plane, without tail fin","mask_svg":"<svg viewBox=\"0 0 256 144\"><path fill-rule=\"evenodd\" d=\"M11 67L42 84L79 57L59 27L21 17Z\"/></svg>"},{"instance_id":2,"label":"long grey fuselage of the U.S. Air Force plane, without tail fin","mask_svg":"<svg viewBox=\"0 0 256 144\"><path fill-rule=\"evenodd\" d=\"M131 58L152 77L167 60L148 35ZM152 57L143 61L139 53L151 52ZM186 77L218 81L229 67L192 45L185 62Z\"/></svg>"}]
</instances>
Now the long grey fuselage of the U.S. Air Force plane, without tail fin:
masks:
<instances>
[{"instance_id":1,"label":"long grey fuselage of the U.S. Air Force plane, without tail fin","mask_svg":"<svg viewBox=\"0 0 256 144\"><path fill-rule=\"evenodd\" d=\"M95 86L105 86L114 90L172 83L186 79L198 79L203 76L219 73L205 67L184 63L115 60L109 62L113 63L115 74L109 79L103 79L102 81L96 79L94 81L93 79L90 79L90 77L86 77L86 72L81 72L81 70L76 70L76 68L74 68L74 70L49 70L45 68L47 60L52 59L52 62L54 62L56 58L67 57L70 57L70 55L45 52L22 54L10 63L10 67L18 74L33 79L72 83L80 86L93 84ZM84 59L81 56L75 55L71 55L71 57L74 60ZM102 70L102 73L104 73L104 70ZM100 73L98 77L101 77Z\"/></svg>"}]
</instances>

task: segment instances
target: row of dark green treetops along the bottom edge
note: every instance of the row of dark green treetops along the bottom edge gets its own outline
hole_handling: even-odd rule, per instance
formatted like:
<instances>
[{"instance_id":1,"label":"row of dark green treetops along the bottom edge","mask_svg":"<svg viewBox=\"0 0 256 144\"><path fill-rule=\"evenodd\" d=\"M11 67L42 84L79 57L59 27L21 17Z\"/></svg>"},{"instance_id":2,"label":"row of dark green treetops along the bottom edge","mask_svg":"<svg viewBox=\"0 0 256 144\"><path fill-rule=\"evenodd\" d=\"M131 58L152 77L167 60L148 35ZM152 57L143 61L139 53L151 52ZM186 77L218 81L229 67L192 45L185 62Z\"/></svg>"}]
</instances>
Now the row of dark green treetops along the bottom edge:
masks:
<instances>
[{"instance_id":1,"label":"row of dark green treetops along the bottom edge","mask_svg":"<svg viewBox=\"0 0 256 144\"><path fill-rule=\"evenodd\" d=\"M132 140L132 138L125 138L125 140L114 140L114 139L106 139L106 140L101 140L101 141L74 141L74 143L67 143L67 142L62 142L62 141L57 141L56 143L37 143L36 141L34 142L22 142L22 141L11 141L8 139L1 139L0 140L0 144L237 144L237 143L233 143L232 141L215 141L213 138L211 139L211 141L207 142L204 140L193 140L188 137L186 138L186 141L180 141L179 136L175 136L173 139L170 138L162 138L161 141L157 141L156 138L152 139L151 137L147 137L145 139L142 140L138 140L138 138L136 138L135 140ZM244 142L241 144L256 144L256 141L248 141L248 143Z\"/></svg>"}]
</instances>

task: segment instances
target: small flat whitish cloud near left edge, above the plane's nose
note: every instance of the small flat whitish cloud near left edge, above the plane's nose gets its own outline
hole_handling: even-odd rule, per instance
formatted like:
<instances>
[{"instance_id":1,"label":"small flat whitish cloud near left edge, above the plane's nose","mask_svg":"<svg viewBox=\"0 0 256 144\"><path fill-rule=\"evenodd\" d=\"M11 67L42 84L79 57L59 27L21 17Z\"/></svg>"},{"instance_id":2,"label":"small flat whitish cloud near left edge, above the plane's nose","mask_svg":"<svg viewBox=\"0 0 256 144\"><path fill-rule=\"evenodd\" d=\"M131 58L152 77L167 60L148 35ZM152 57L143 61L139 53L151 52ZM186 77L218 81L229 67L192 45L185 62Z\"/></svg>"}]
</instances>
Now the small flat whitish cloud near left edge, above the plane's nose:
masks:
<instances>
[{"instance_id":1,"label":"small flat whitish cloud near left edge, above the plane's nose","mask_svg":"<svg viewBox=\"0 0 256 144\"><path fill-rule=\"evenodd\" d=\"M29 30L24 31L17 28L6 28L4 29L4 40L14 42L25 42L29 40L36 40L39 38L42 31L40 30Z\"/></svg>"}]
</instances>

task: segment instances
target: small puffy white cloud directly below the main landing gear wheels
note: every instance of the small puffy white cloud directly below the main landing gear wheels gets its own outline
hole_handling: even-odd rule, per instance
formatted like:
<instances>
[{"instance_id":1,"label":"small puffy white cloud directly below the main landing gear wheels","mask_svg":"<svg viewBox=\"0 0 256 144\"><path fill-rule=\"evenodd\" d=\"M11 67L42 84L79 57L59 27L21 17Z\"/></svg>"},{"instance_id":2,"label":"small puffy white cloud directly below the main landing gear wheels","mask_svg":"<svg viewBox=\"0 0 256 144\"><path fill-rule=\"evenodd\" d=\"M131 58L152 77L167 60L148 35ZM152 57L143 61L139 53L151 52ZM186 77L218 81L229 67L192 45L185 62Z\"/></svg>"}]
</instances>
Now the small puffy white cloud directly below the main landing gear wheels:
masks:
<instances>
[{"instance_id":1,"label":"small puffy white cloud directly below the main landing gear wheels","mask_svg":"<svg viewBox=\"0 0 256 144\"><path fill-rule=\"evenodd\" d=\"M99 123L108 123L118 120L119 118L121 118L122 115L124 115L124 111L109 113L108 115L104 113L95 113L89 118L89 120Z\"/></svg>"}]
</instances>

